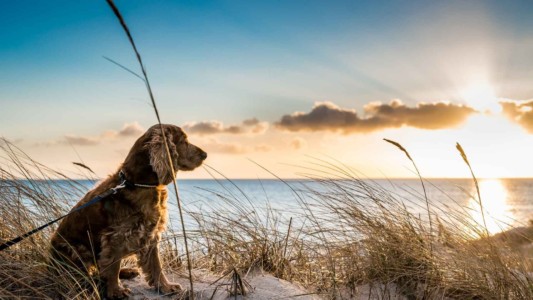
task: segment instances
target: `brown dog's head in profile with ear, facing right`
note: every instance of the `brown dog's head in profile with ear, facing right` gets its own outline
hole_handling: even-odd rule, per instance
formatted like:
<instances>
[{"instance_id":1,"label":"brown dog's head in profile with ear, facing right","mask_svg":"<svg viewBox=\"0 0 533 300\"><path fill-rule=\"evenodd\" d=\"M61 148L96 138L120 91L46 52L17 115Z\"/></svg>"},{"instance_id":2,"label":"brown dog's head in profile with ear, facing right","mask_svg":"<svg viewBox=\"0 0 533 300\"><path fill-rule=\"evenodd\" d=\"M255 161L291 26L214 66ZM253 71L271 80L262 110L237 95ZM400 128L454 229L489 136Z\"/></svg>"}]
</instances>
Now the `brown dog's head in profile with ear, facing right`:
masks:
<instances>
[{"instance_id":1,"label":"brown dog's head in profile with ear, facing right","mask_svg":"<svg viewBox=\"0 0 533 300\"><path fill-rule=\"evenodd\" d=\"M163 137L166 138L168 152ZM174 172L194 170L207 158L207 153L189 143L187 135L181 128L175 125L163 124L160 126L157 124L150 127L135 142L124 165L131 166L131 168L141 172L144 172L142 169L146 169L149 165L153 173L157 175L158 183L167 185L172 182L176 175L172 174L172 167L168 159L169 154ZM139 164L144 166L139 166Z\"/></svg>"}]
</instances>

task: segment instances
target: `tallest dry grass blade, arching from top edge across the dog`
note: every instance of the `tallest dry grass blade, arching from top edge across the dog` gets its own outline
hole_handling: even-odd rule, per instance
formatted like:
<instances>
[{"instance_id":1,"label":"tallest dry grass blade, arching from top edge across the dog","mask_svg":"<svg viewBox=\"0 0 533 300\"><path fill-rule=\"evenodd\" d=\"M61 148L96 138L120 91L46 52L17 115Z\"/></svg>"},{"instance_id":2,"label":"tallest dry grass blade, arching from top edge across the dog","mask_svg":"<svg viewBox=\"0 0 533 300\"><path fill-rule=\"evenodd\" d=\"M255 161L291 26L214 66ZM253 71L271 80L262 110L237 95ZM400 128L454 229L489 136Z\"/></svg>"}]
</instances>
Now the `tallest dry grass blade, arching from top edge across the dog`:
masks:
<instances>
[{"instance_id":1,"label":"tallest dry grass blade, arching from top edge across the dog","mask_svg":"<svg viewBox=\"0 0 533 300\"><path fill-rule=\"evenodd\" d=\"M179 210L179 214L180 214L181 227L182 227L182 233L183 233L183 240L184 240L184 244L185 244L185 252L186 252L186 255L187 255L187 269L189 271L189 284L190 284L190 288L191 288L190 295L191 295L191 298L194 298L194 285L193 285L193 278L192 278L192 263L191 263L191 258L190 258L190 254L189 254L189 245L188 245L188 241L187 241L187 232L185 230L185 222L183 221L183 209L182 209L182 206L181 206L180 197L178 195L178 186L176 184L176 178L175 178L175 174L176 174L175 166L174 166L174 164L172 162L172 156L170 154L170 148L168 146L167 138L165 136L165 130L163 129L163 125L161 124L161 118L159 117L159 111L157 109L157 105L156 105L156 102L155 102L154 94L152 92L152 87L150 85L150 81L148 80L148 75L146 73L146 68L144 67L144 64L143 64L143 61L142 61L142 58L141 58L141 54L137 50L137 46L135 45L135 42L133 41L133 36L131 35L131 32L130 32L127 24L126 24L126 21L122 17L122 14L120 13L118 8L116 7L116 5L113 2L113 0L106 0L106 1L109 4L109 7L111 7L111 10L113 10L113 13L117 17L117 19L119 20L120 25L124 29L124 32L126 33L126 35L128 37L128 40L130 41L130 44L131 44L131 46L133 48L133 51L135 52L135 56L137 57L137 61L139 62L139 65L141 67L141 71L142 71L142 74L143 74L143 77L144 77L144 82L146 84L146 89L148 91L148 95L150 96L150 100L151 100L152 106L154 108L154 112L155 112L155 115L156 115L156 118L157 118L157 122L159 123L159 126L161 128L161 133L163 135L163 142L165 144L165 150L167 152L168 163L169 163L170 169L172 171L172 176L173 176L172 183L173 183L174 192L175 192L176 200L177 200L177 203L178 203L178 210Z\"/></svg>"}]
</instances>

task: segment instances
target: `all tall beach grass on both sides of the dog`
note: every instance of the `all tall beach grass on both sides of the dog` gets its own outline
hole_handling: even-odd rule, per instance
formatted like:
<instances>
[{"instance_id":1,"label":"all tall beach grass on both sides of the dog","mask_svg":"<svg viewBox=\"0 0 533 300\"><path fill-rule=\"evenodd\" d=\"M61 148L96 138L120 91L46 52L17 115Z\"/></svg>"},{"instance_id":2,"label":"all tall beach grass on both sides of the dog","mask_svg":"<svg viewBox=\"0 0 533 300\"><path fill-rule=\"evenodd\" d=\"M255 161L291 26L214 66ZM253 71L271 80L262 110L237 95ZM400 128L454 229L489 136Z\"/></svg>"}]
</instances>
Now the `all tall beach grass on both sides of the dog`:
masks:
<instances>
[{"instance_id":1,"label":"all tall beach grass on both sides of the dog","mask_svg":"<svg viewBox=\"0 0 533 300\"><path fill-rule=\"evenodd\" d=\"M61 215L85 193L9 142L0 150L1 240ZM189 211L192 268L234 278L233 293L249 290L246 275L263 270L326 299L361 291L373 299L533 298L531 257L510 247L508 236L487 237L460 207L400 197L354 174L322 163L307 175L312 185L286 182L300 206L290 213L259 207L236 183L221 182L224 192L213 191L209 201L216 209ZM430 208L433 235L427 234L428 219L413 207ZM93 277L48 268L52 230L0 252L0 298L100 298ZM175 249L181 234L168 232L162 241L167 272L183 271L185 257ZM531 242L531 235L523 238ZM73 275L54 275L58 271Z\"/></svg>"}]
</instances>

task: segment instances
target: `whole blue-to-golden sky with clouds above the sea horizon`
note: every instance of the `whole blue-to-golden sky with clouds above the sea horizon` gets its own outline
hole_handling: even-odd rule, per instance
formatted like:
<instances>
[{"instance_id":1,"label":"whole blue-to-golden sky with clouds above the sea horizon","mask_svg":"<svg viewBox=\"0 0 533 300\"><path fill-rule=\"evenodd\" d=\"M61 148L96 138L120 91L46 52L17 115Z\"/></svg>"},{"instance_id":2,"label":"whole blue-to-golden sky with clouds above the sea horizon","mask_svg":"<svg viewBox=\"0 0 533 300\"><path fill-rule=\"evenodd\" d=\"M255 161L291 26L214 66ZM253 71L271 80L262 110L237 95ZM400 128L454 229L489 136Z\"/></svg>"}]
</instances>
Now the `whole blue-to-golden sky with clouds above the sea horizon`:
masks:
<instances>
[{"instance_id":1,"label":"whole blue-to-golden sky with clouds above the sea horizon","mask_svg":"<svg viewBox=\"0 0 533 300\"><path fill-rule=\"evenodd\" d=\"M229 178L533 177L530 1L115 1L164 123ZM0 136L114 172L156 118L105 1L0 4ZM266 171L267 169L268 171ZM210 178L206 169L179 178Z\"/></svg>"}]
</instances>

